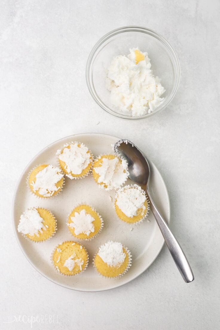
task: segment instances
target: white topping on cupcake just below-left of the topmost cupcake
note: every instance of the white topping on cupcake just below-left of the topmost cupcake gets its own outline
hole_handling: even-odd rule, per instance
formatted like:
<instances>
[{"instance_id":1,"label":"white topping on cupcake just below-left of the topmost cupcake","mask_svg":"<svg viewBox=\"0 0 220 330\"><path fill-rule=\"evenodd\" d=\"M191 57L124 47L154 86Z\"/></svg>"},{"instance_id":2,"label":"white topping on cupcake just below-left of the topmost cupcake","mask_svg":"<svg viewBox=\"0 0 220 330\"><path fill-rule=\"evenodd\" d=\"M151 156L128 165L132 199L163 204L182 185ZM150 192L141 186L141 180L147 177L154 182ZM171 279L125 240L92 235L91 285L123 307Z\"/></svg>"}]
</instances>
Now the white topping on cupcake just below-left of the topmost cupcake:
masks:
<instances>
[{"instance_id":1,"label":"white topping on cupcake just below-left of the topmost cupcake","mask_svg":"<svg viewBox=\"0 0 220 330\"><path fill-rule=\"evenodd\" d=\"M49 197L54 194L55 191L61 187L57 187L56 183L63 178L62 171L53 165L48 165L42 171L36 174L36 181L32 182L34 192L44 197Z\"/></svg>"}]
</instances>

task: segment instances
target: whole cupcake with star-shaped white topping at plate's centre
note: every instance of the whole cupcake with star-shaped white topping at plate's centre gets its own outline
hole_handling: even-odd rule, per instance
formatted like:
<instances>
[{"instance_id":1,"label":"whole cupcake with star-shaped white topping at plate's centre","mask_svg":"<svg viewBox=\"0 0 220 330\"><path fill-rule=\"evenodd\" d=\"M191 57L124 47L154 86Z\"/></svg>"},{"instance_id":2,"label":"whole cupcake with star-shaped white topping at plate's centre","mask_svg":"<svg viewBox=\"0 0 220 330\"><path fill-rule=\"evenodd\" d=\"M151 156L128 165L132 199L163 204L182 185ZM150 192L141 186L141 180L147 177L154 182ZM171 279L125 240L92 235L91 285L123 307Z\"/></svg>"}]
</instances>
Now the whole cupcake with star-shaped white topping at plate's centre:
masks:
<instances>
[{"instance_id":1,"label":"whole cupcake with star-shaped white topping at plate's centre","mask_svg":"<svg viewBox=\"0 0 220 330\"><path fill-rule=\"evenodd\" d=\"M87 241L102 230L103 220L90 206L79 205L68 216L67 225L73 236Z\"/></svg>"}]
</instances>

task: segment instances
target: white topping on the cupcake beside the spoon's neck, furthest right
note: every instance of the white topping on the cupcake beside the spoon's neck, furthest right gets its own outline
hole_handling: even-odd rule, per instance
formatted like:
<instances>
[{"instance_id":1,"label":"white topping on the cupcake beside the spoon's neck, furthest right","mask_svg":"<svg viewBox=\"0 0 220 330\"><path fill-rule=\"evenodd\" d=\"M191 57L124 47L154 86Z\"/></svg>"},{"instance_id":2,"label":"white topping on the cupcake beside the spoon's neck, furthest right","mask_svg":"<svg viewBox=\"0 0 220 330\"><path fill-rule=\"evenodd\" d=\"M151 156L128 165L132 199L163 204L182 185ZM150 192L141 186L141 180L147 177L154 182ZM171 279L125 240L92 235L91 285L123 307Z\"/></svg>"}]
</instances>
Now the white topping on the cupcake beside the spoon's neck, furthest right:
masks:
<instances>
[{"instance_id":1,"label":"white topping on the cupcake beside the spoon's neck, furthest right","mask_svg":"<svg viewBox=\"0 0 220 330\"><path fill-rule=\"evenodd\" d=\"M145 201L145 193L137 184L124 186L116 193L116 204L128 217L138 215L140 209L143 212L146 209Z\"/></svg>"}]
</instances>

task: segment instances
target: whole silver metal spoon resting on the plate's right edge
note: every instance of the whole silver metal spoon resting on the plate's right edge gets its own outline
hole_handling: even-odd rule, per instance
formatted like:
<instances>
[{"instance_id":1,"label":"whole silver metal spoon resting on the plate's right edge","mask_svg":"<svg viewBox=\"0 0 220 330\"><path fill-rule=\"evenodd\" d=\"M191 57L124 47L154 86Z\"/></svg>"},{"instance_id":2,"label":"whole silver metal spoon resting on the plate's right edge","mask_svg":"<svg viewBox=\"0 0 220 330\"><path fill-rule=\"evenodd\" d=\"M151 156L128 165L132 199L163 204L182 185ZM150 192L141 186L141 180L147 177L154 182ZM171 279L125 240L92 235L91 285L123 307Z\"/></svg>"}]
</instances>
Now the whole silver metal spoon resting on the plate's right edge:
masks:
<instances>
[{"instance_id":1,"label":"whole silver metal spoon resting on the plate's right edge","mask_svg":"<svg viewBox=\"0 0 220 330\"><path fill-rule=\"evenodd\" d=\"M160 215L155 206L149 192L150 167L146 157L142 152L131 142L125 139L119 140L114 145L116 154L120 154L128 162L129 178L139 184L144 191L147 192L150 209L158 223L167 247L173 257L173 260L186 283L194 280L194 275L189 262L180 247L179 243L173 236L166 221Z\"/></svg>"}]
</instances>

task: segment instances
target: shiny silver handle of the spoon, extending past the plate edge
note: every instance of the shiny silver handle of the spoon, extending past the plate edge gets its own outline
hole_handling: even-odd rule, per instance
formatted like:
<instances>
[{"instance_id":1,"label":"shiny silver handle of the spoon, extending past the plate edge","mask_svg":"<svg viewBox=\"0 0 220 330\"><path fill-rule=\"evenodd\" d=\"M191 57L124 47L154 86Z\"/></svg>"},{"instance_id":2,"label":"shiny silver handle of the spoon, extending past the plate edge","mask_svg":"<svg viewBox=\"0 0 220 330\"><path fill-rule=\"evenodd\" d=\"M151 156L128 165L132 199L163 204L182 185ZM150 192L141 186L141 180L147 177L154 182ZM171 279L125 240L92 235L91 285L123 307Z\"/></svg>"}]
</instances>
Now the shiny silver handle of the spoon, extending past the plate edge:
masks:
<instances>
[{"instance_id":1,"label":"shiny silver handle of the spoon, extending past the plate edge","mask_svg":"<svg viewBox=\"0 0 220 330\"><path fill-rule=\"evenodd\" d=\"M173 260L174 260L180 274L182 275L183 280L186 283L192 282L194 280L194 275L193 275L192 269L189 265L189 262L185 256L182 248L180 247L179 243L173 236L166 221L160 215L156 205L154 204L152 198L150 197L149 191L147 191L147 193L148 193L148 197L150 200L150 209L158 223L158 226L161 230L161 233L164 237L167 247L170 250Z\"/></svg>"}]
</instances>

